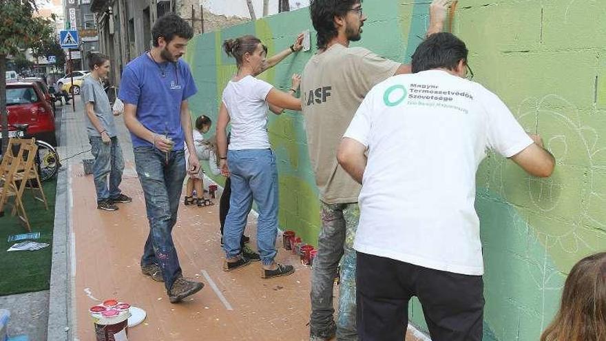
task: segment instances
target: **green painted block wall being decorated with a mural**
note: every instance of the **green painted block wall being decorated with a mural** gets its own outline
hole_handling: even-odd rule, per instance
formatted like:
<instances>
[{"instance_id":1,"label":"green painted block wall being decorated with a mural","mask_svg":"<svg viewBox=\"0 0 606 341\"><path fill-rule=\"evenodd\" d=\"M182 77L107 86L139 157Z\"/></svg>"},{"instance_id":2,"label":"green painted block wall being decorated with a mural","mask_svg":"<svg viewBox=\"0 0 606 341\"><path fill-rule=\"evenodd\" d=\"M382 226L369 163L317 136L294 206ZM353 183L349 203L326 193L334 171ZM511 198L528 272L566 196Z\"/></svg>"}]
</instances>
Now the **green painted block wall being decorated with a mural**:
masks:
<instances>
[{"instance_id":1,"label":"green painted block wall being decorated with a mural","mask_svg":"<svg viewBox=\"0 0 606 341\"><path fill-rule=\"evenodd\" d=\"M426 2L365 1L369 19L359 45L410 61L428 23ZM495 155L479 169L484 340L538 340L574 262L606 249L605 22L602 0L462 0L447 25L468 44L474 81L499 94L528 131L541 133L557 159L544 180ZM220 49L224 39L256 34L273 54L306 28L304 9L195 37L187 54L200 89L191 101L194 116L216 118L236 70ZM286 90L311 53L291 56L261 78ZM280 227L315 242L319 207L304 122L293 112L271 116L269 132L279 158ZM424 328L418 302L410 313Z\"/></svg>"}]
</instances>

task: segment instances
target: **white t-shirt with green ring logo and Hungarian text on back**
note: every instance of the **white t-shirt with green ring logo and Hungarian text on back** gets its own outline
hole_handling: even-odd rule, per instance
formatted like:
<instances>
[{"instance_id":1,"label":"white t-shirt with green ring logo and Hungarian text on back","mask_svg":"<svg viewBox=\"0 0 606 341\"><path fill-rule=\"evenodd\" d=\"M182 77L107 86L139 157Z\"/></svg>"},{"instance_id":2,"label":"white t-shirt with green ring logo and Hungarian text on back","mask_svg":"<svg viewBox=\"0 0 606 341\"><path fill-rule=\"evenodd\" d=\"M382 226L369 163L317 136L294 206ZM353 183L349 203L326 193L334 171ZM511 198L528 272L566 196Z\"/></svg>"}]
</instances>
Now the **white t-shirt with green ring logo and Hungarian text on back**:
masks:
<instances>
[{"instance_id":1,"label":"white t-shirt with green ring logo and Hungarian text on back","mask_svg":"<svg viewBox=\"0 0 606 341\"><path fill-rule=\"evenodd\" d=\"M354 248L410 264L482 275L475 176L487 149L532 144L482 85L430 70L371 90L344 137L368 147Z\"/></svg>"}]
</instances>

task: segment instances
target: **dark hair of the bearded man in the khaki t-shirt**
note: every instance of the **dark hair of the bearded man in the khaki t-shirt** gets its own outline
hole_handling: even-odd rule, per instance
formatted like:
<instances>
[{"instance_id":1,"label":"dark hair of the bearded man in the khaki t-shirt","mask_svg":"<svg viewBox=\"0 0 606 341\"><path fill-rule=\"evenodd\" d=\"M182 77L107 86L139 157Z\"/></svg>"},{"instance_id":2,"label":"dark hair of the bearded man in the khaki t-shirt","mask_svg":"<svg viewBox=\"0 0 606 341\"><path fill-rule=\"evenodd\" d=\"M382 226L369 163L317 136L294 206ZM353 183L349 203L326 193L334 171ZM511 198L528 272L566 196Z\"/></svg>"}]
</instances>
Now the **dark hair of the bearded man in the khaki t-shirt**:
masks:
<instances>
[{"instance_id":1,"label":"dark hair of the bearded man in the khaki t-shirt","mask_svg":"<svg viewBox=\"0 0 606 341\"><path fill-rule=\"evenodd\" d=\"M317 32L317 48L325 49L328 42L337 37L335 17L345 17L357 3L362 0L311 0L309 13Z\"/></svg>"}]
</instances>

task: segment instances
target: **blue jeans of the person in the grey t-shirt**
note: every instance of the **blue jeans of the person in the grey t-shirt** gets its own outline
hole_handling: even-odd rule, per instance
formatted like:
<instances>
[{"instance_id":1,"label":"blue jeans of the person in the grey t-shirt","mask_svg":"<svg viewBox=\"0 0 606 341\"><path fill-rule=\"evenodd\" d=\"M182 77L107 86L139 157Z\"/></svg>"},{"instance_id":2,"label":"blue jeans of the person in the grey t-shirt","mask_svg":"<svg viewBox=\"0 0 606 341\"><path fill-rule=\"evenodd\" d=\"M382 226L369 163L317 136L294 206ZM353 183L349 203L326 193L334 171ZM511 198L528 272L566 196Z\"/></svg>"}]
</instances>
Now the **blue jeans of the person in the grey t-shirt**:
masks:
<instances>
[{"instance_id":1,"label":"blue jeans of the person in the grey t-shirt","mask_svg":"<svg viewBox=\"0 0 606 341\"><path fill-rule=\"evenodd\" d=\"M121 194L122 172L124 158L117 137L112 137L109 143L103 143L100 136L90 136L90 152L95 158L92 165L97 203L102 200L116 198ZM107 176L109 175L109 188Z\"/></svg>"}]
</instances>

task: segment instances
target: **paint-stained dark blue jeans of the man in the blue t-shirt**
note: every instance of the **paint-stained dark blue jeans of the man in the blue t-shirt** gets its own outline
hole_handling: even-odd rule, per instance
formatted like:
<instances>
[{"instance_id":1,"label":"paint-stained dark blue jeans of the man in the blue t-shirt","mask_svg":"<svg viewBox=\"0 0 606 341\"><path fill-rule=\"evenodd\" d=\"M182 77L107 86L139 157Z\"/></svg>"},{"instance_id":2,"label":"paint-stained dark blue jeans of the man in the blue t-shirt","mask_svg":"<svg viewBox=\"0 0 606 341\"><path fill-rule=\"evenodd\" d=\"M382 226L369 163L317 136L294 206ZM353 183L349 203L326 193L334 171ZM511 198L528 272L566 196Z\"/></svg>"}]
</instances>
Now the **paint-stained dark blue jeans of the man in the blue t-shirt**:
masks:
<instances>
[{"instance_id":1,"label":"paint-stained dark blue jeans of the man in the blue t-shirt","mask_svg":"<svg viewBox=\"0 0 606 341\"><path fill-rule=\"evenodd\" d=\"M183 180L185 155L182 150L166 154L155 147L134 147L135 165L149 220L149 236L143 249L141 266L157 264L162 269L167 291L181 276L181 267L172 238L177 222Z\"/></svg>"}]
</instances>

